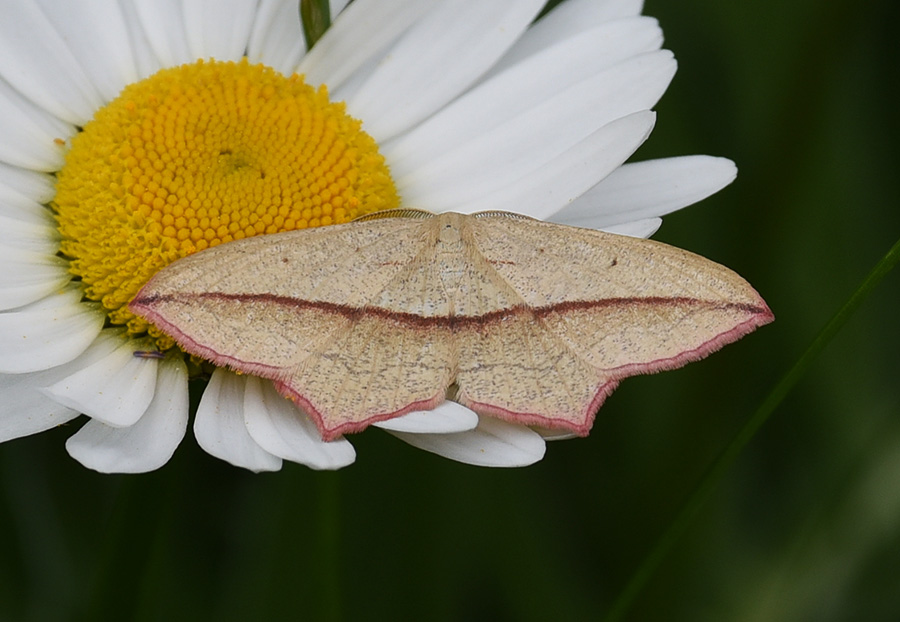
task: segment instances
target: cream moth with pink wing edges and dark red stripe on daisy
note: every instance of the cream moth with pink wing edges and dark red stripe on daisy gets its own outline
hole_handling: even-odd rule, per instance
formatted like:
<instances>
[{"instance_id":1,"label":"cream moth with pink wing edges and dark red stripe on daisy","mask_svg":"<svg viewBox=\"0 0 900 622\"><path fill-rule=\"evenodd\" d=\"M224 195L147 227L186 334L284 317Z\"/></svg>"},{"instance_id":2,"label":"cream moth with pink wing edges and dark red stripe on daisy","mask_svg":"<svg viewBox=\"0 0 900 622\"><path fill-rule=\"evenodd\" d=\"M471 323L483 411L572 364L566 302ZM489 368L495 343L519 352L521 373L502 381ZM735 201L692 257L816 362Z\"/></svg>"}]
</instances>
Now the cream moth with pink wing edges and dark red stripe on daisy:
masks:
<instances>
[{"instance_id":1,"label":"cream moth with pink wing edges and dark red stripe on daisy","mask_svg":"<svg viewBox=\"0 0 900 622\"><path fill-rule=\"evenodd\" d=\"M180 259L130 309L187 352L271 379L332 440L455 399L586 435L623 378L774 319L728 268L508 212L392 210Z\"/></svg>"}]
</instances>

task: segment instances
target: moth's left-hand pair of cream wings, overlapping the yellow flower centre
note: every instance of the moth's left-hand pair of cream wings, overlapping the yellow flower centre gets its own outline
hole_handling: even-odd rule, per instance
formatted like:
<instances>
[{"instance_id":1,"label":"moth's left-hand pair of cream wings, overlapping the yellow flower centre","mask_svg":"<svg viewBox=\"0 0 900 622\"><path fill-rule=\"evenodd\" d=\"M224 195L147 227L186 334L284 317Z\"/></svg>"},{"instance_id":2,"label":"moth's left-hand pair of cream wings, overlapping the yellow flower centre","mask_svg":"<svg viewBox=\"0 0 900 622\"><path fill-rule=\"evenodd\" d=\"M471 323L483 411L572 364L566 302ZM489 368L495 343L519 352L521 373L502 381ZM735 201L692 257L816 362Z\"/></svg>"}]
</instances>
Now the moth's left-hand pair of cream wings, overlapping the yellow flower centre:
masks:
<instances>
[{"instance_id":1,"label":"moth's left-hand pair of cream wings, overlapping the yellow flower centre","mask_svg":"<svg viewBox=\"0 0 900 622\"><path fill-rule=\"evenodd\" d=\"M187 352L274 380L335 438L433 407L452 382L430 221L373 220L218 246L160 271L130 307Z\"/></svg>"}]
</instances>

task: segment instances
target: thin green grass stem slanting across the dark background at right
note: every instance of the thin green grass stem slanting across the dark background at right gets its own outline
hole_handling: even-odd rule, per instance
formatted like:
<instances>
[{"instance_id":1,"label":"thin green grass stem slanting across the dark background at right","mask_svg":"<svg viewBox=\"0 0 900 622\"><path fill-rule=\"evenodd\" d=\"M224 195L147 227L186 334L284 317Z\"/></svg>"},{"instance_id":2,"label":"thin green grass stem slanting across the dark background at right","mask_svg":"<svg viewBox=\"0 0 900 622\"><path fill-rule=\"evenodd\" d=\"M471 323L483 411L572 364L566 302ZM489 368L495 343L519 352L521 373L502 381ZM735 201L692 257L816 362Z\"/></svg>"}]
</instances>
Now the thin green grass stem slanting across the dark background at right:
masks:
<instances>
[{"instance_id":1,"label":"thin green grass stem slanting across the dark background at right","mask_svg":"<svg viewBox=\"0 0 900 622\"><path fill-rule=\"evenodd\" d=\"M863 280L857 290L844 303L838 312L831 318L825 327L819 332L806 351L800 356L794 366L785 374L772 389L766 399L760 404L753 416L747 420L731 442L721 454L713 461L706 473L700 479L694 492L687 498L678 514L669 523L669 526L656 541L650 553L641 562L631 579L619 593L613 602L606 622L621 620L628 612L634 599L643 589L644 585L653 576L659 564L665 559L675 542L684 535L694 518L700 512L703 504L716 489L728 469L734 464L744 447L756 435L762 425L769 419L781 401L790 392L794 385L809 369L812 362L825 349L825 346L834 338L838 331L847 322L850 316L856 312L863 300L878 286L881 280L900 262L900 240L891 247L887 254L878 262L868 276Z\"/></svg>"}]
</instances>

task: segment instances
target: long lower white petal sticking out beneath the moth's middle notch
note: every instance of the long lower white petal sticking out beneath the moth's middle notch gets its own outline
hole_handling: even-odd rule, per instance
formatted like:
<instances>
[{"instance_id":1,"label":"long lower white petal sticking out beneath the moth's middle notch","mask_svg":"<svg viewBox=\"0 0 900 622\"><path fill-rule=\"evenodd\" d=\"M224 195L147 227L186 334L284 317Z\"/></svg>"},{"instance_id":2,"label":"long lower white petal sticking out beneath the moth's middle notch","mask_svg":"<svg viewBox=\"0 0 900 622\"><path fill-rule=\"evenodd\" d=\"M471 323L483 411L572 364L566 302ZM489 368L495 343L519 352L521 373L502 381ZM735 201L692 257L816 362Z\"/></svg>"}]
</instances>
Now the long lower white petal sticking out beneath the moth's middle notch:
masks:
<instances>
[{"instance_id":1,"label":"long lower white petal sticking out beneath the moth's middle notch","mask_svg":"<svg viewBox=\"0 0 900 622\"><path fill-rule=\"evenodd\" d=\"M478 427L457 434L391 432L413 447L476 466L521 467L544 457L540 434L493 417L481 417Z\"/></svg>"}]
</instances>

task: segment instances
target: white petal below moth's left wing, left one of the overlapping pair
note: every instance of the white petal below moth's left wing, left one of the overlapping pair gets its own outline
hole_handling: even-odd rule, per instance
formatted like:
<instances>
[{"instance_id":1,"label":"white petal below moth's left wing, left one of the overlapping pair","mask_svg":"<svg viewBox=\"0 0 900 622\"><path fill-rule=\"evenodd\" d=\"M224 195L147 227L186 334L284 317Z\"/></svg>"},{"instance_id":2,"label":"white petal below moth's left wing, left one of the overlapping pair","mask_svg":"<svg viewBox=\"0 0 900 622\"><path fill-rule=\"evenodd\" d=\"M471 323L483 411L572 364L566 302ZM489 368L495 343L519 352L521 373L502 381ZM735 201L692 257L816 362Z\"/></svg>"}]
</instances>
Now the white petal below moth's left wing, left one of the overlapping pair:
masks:
<instances>
[{"instance_id":1,"label":"white petal below moth's left wing, left one of the overlapping pair","mask_svg":"<svg viewBox=\"0 0 900 622\"><path fill-rule=\"evenodd\" d=\"M244 425L247 378L222 367L213 371L194 417L194 436L207 453L235 466L278 471L281 458L260 447Z\"/></svg>"}]
</instances>

